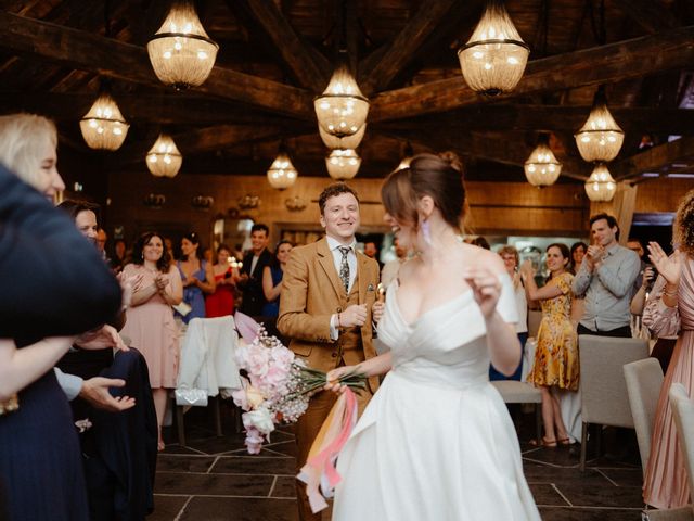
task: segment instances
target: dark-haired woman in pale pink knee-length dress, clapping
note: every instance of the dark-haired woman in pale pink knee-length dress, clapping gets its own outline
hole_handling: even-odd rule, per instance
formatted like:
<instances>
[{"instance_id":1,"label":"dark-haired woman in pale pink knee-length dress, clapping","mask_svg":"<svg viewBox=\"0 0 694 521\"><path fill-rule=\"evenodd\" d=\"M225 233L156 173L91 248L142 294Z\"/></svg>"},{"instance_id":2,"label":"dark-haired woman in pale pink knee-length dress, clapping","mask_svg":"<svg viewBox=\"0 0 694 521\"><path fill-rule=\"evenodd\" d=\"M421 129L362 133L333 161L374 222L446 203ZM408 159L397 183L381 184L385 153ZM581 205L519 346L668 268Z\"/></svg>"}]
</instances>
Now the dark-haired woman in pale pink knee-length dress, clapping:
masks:
<instances>
[{"instance_id":1,"label":"dark-haired woman in pale pink knee-length dress, clapping","mask_svg":"<svg viewBox=\"0 0 694 521\"><path fill-rule=\"evenodd\" d=\"M130 307L126 310L123 333L140 350L150 369L150 384L156 408L159 450L164 448L162 423L166 412L167 390L176 387L178 377L178 326L172 305L183 297L181 276L168 260L160 236L143 234L132 249L132 264L124 269L126 278L138 277Z\"/></svg>"}]
</instances>

